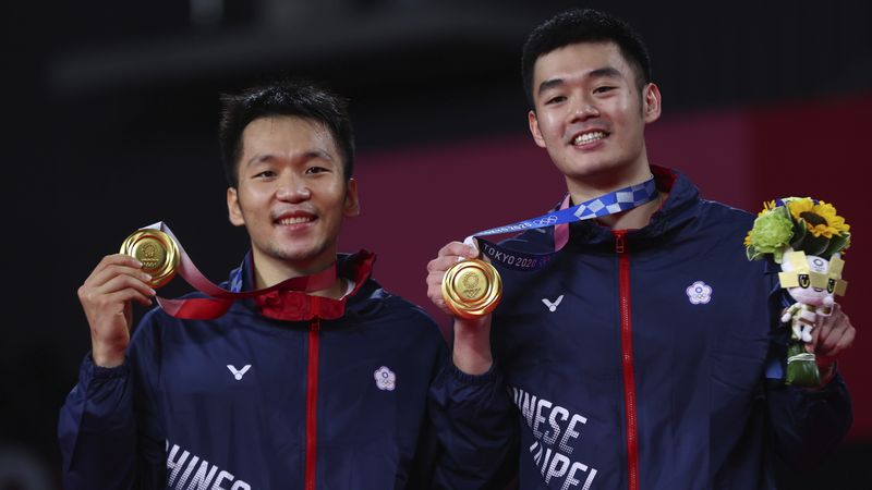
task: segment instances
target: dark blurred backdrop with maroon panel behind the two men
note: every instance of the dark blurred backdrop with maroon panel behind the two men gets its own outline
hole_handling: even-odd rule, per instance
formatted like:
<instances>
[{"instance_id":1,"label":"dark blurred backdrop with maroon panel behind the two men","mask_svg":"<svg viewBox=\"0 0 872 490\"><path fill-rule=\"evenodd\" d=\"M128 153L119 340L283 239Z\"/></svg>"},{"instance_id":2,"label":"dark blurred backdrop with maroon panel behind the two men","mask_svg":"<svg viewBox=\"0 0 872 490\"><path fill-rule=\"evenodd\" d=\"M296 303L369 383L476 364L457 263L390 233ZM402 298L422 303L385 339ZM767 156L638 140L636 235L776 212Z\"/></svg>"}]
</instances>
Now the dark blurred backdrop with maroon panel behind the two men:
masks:
<instances>
[{"instance_id":1,"label":"dark blurred backdrop with maroon panel behind the two men","mask_svg":"<svg viewBox=\"0 0 872 490\"><path fill-rule=\"evenodd\" d=\"M703 196L756 212L812 195L852 225L844 305L858 340L841 362L849 439L786 488L869 489L872 7L863 0L153 0L15 2L2 15L8 184L0 346L0 490L59 487L58 408L89 347L76 289L131 231L167 221L220 281L246 250L226 218L218 94L279 73L351 99L363 216L344 249L380 254L376 278L426 305L424 267L449 240L550 207L562 180L526 128L520 49L571 7L643 35L664 117L655 163ZM175 281L161 294L185 291ZM437 320L447 319L433 311Z\"/></svg>"}]
</instances>

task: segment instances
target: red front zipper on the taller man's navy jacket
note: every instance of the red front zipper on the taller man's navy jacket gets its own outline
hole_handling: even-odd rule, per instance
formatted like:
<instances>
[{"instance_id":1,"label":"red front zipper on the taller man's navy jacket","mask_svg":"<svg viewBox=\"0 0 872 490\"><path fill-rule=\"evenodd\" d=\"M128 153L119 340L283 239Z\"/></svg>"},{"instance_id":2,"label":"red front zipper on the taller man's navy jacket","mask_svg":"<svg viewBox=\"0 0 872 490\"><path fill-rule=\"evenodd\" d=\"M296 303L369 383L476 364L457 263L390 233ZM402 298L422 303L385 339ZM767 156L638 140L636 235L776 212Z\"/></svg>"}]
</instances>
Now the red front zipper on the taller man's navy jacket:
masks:
<instances>
[{"instance_id":1,"label":"red front zipper on the taller man's navy jacket","mask_svg":"<svg viewBox=\"0 0 872 490\"><path fill-rule=\"evenodd\" d=\"M623 408L627 426L627 488L639 490L639 440L635 427L635 378L633 376L632 321L630 318L630 254L626 230L615 233L620 290L620 347L623 368Z\"/></svg>"}]
</instances>

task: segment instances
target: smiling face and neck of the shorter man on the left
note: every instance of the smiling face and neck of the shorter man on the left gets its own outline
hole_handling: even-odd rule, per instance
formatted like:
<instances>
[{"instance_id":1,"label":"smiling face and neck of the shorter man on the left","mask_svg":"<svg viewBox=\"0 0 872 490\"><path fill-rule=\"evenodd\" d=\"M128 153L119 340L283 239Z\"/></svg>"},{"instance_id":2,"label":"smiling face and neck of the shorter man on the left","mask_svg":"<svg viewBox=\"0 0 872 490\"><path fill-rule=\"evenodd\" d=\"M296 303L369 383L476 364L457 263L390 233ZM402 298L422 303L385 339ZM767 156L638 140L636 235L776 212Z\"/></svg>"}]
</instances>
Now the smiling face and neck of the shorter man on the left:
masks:
<instances>
[{"instance_id":1,"label":"smiling face and neck of the shorter man on the left","mask_svg":"<svg viewBox=\"0 0 872 490\"><path fill-rule=\"evenodd\" d=\"M342 163L350 149L340 151L324 123L288 115L250 122L241 147L227 207L230 222L245 226L252 240L255 285L332 266L342 218L360 212L358 183L346 177L351 169ZM325 295L341 296L340 285Z\"/></svg>"}]
</instances>

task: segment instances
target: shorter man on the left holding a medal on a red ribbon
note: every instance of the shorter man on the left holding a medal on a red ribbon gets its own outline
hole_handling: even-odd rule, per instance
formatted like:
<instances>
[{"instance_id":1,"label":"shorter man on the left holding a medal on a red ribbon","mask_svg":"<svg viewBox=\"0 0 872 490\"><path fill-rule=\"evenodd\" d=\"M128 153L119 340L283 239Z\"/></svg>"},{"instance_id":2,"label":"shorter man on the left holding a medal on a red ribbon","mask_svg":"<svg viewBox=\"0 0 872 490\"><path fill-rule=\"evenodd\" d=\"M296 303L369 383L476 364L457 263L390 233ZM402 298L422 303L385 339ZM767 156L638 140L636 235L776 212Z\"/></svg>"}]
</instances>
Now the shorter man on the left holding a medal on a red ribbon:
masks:
<instances>
[{"instance_id":1,"label":"shorter man on the left holding a medal on a red ribbon","mask_svg":"<svg viewBox=\"0 0 872 490\"><path fill-rule=\"evenodd\" d=\"M507 451L489 437L511 432L492 416L501 383L447 363L373 254L337 254L360 209L344 101L306 83L227 96L221 147L251 253L217 286L160 223L97 265L78 290L93 350L59 422L65 488L481 488ZM204 294L156 296L177 271ZM153 298L131 338L131 304Z\"/></svg>"}]
</instances>

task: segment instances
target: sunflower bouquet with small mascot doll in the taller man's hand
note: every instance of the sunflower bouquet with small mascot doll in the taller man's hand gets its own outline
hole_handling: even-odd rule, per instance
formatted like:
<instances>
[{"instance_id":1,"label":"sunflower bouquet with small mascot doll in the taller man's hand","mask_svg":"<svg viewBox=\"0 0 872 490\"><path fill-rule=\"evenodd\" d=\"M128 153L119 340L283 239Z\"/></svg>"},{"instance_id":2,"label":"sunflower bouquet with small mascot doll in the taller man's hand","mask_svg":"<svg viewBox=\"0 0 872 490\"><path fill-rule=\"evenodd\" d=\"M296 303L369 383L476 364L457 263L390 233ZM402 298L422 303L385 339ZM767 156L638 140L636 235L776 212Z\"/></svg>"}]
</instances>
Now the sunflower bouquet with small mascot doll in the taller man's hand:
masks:
<instances>
[{"instance_id":1,"label":"sunflower bouquet with small mascot doll in the taller man's hand","mask_svg":"<svg viewBox=\"0 0 872 490\"><path fill-rule=\"evenodd\" d=\"M778 279L796 301L782 321L790 322L785 381L820 384L814 354L807 352L819 316L828 316L834 294L844 295L841 254L850 246L850 226L833 205L810 197L764 203L744 238L749 260L771 258L780 265Z\"/></svg>"}]
</instances>

